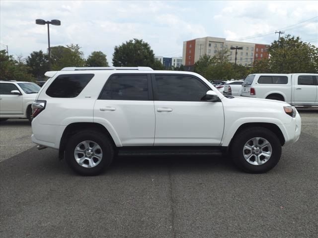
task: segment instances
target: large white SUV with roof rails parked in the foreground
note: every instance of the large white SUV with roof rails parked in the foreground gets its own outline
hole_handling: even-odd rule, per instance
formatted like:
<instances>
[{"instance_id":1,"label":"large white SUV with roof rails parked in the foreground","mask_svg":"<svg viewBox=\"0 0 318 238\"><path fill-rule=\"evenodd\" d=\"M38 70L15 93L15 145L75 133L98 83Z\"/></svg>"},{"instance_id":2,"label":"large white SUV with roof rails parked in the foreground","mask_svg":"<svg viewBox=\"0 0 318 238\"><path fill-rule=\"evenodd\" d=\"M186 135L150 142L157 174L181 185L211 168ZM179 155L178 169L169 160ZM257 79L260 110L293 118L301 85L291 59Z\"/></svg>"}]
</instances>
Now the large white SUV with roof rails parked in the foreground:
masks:
<instances>
[{"instance_id":1,"label":"large white SUV with roof rails parked in the foreground","mask_svg":"<svg viewBox=\"0 0 318 238\"><path fill-rule=\"evenodd\" d=\"M117 154L227 152L244 171L263 173L301 132L289 104L224 96L193 72L74 67L46 75L32 106L32 141L58 149L81 175L99 174Z\"/></svg>"}]
</instances>

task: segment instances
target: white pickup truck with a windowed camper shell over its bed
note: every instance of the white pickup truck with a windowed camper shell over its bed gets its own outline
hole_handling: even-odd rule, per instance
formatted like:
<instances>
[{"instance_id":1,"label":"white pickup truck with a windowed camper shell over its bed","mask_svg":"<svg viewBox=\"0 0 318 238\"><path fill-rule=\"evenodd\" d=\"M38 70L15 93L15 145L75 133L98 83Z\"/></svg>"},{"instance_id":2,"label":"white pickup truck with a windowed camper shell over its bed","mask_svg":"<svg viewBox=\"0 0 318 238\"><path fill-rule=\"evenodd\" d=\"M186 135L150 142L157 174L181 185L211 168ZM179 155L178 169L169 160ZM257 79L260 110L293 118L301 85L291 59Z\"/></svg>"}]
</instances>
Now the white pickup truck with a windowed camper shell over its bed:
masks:
<instances>
[{"instance_id":1,"label":"white pickup truck with a windowed camper shell over its bed","mask_svg":"<svg viewBox=\"0 0 318 238\"><path fill-rule=\"evenodd\" d=\"M241 96L279 100L293 106L318 106L318 74L250 74L242 84Z\"/></svg>"}]
</instances>

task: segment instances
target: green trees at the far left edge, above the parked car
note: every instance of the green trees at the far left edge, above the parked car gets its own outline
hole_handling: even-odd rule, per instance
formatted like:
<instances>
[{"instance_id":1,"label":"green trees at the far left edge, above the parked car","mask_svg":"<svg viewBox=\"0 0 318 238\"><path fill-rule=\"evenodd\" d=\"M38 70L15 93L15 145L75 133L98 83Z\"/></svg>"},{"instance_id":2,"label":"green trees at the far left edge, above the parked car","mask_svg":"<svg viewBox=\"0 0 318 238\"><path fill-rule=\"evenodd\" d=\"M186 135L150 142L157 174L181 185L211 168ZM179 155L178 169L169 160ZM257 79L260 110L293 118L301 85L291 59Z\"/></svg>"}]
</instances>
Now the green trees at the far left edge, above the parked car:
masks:
<instances>
[{"instance_id":1,"label":"green trees at the far left edge, above the parked car","mask_svg":"<svg viewBox=\"0 0 318 238\"><path fill-rule=\"evenodd\" d=\"M5 50L0 51L0 79L16 81L34 81L28 72L30 68L24 63L21 57L17 60L13 56L7 56Z\"/></svg>"}]
</instances>

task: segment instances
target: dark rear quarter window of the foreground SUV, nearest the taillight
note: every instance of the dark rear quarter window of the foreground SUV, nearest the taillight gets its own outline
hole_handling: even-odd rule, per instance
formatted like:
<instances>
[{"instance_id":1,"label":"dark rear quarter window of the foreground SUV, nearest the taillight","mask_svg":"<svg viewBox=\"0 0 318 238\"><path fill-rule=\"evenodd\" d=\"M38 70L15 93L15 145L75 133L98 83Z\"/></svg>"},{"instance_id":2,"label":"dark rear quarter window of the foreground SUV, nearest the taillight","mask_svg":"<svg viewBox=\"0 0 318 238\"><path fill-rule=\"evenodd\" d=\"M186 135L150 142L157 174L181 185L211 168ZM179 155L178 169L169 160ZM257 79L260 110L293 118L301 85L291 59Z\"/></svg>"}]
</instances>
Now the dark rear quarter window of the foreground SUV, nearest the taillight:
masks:
<instances>
[{"instance_id":1,"label":"dark rear quarter window of the foreground SUV, nearest the taillight","mask_svg":"<svg viewBox=\"0 0 318 238\"><path fill-rule=\"evenodd\" d=\"M61 74L51 83L46 94L52 98L75 98L92 77L92 73Z\"/></svg>"}]
</instances>

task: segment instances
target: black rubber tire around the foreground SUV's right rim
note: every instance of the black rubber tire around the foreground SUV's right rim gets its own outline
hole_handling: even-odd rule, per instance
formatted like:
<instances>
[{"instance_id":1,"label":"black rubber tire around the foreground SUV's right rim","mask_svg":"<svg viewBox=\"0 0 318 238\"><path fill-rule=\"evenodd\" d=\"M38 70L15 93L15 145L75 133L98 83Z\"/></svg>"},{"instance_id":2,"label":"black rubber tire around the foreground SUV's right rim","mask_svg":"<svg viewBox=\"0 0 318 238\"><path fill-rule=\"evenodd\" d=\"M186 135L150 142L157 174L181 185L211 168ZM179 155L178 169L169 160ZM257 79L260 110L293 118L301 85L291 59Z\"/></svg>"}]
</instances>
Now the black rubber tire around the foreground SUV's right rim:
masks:
<instances>
[{"instance_id":1,"label":"black rubber tire around the foreground SUV's right rim","mask_svg":"<svg viewBox=\"0 0 318 238\"><path fill-rule=\"evenodd\" d=\"M262 137L271 145L271 156L267 162L261 165L253 165L244 158L244 145L254 137ZM247 150L248 151L248 150ZM250 127L239 131L231 142L230 153L233 162L243 171L251 174L265 173L278 163L282 153L279 138L269 129L263 127ZM256 157L252 157L256 158Z\"/></svg>"}]
</instances>

